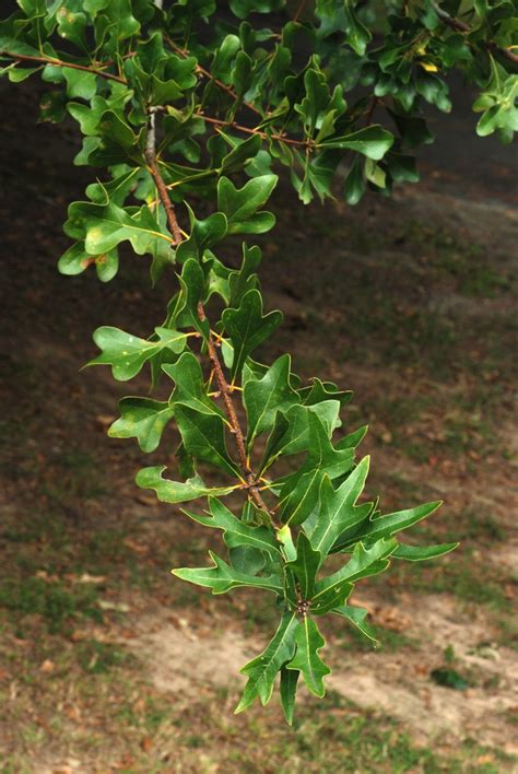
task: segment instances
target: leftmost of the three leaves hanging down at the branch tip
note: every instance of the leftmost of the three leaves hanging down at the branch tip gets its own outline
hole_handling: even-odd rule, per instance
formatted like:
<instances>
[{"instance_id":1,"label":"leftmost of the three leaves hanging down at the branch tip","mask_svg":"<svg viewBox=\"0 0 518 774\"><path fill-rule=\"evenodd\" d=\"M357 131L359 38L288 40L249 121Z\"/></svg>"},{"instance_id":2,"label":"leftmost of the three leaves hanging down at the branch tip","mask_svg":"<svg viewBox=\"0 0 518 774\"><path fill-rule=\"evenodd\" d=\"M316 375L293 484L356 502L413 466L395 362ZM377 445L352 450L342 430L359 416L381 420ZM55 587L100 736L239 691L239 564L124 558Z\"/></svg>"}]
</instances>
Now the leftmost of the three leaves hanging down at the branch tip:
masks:
<instances>
[{"instance_id":1,"label":"leftmost of the three leaves hanging down at the branch tip","mask_svg":"<svg viewBox=\"0 0 518 774\"><path fill-rule=\"evenodd\" d=\"M264 650L248 661L240 670L248 678L243 696L235 713L243 712L259 697L263 705L268 704L273 692L275 677L295 650L295 632L298 621L294 612L285 612L273 638Z\"/></svg>"}]
</instances>

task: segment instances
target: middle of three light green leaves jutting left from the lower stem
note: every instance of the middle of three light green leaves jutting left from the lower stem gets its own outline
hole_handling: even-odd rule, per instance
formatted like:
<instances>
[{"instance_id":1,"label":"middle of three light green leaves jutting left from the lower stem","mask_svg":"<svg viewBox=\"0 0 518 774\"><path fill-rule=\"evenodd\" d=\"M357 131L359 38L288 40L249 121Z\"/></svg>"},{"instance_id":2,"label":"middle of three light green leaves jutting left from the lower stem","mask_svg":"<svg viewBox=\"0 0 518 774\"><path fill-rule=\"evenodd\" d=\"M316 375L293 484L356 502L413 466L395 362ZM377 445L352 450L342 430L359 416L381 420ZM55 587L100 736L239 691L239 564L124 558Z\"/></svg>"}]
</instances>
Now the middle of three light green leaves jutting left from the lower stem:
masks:
<instances>
[{"instance_id":1,"label":"middle of three light green leaves jutting left from the lower stem","mask_svg":"<svg viewBox=\"0 0 518 774\"><path fill-rule=\"evenodd\" d=\"M138 438L142 452L154 452L167 422L173 418L168 403L151 398L122 398L120 419L108 430L111 438Z\"/></svg>"}]
</instances>

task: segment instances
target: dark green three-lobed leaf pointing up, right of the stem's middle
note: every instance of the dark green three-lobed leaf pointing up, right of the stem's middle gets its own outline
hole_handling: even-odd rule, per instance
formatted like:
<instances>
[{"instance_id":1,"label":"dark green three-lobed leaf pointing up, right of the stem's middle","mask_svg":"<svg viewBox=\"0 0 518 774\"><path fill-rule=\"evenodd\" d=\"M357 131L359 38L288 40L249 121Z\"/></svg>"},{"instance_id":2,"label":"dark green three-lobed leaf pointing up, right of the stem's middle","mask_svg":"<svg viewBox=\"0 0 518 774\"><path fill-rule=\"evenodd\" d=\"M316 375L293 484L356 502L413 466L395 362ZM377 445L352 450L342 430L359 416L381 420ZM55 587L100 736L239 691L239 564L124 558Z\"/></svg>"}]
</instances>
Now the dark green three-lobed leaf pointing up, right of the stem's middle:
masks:
<instances>
[{"instance_id":1,"label":"dark green three-lobed leaf pointing up, right of the stem's middle","mask_svg":"<svg viewBox=\"0 0 518 774\"><path fill-rule=\"evenodd\" d=\"M262 316L262 298L257 290L250 290L243 296L237 309L225 309L223 325L234 347L232 378L240 375L248 355L268 339L282 322L280 312L270 312Z\"/></svg>"}]
</instances>

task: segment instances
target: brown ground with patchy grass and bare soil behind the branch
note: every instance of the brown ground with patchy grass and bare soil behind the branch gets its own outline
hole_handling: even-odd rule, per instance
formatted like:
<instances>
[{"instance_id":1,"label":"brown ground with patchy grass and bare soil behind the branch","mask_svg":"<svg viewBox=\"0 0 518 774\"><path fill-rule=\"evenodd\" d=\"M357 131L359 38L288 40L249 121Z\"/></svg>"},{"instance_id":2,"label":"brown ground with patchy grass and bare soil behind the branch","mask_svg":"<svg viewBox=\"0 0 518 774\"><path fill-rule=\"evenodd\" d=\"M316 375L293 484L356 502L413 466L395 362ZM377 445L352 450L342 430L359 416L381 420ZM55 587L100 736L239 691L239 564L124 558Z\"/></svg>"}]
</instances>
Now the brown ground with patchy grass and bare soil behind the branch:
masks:
<instances>
[{"instance_id":1,"label":"brown ground with patchy grass and bare soil behind the branch","mask_svg":"<svg viewBox=\"0 0 518 774\"><path fill-rule=\"evenodd\" d=\"M72 127L34 126L37 90L2 89L1 770L517 771L509 151L474 151L457 119L424 181L391 200L278 196L261 277L285 324L263 359L292 351L302 376L354 389L345 427L370 425L369 494L386 511L443 499L415 537L461 541L357 586L381 646L327 623L329 693L302 692L290 729L275 702L233 715L270 600L170 576L216 544L133 483L174 465L174 444L150 461L107 438L127 385L80 372L95 327L146 336L176 280L152 291L129 255L108 285L57 273L67 203L90 178L71 165Z\"/></svg>"}]
</instances>

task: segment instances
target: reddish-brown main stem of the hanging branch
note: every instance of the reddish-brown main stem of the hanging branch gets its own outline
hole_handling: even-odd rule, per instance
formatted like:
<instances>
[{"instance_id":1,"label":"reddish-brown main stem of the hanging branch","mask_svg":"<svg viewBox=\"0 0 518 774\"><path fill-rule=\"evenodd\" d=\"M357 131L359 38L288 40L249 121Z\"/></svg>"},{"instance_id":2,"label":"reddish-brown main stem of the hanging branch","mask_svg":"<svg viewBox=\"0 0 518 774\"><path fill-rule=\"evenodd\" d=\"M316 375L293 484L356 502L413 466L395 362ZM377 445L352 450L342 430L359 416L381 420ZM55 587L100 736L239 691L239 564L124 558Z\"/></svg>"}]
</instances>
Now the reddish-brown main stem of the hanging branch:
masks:
<instances>
[{"instance_id":1,"label":"reddish-brown main stem of the hanging branch","mask_svg":"<svg viewBox=\"0 0 518 774\"><path fill-rule=\"evenodd\" d=\"M181 230L178 225L178 221L176 219L176 212L173 202L169 199L169 195L167 192L166 185L164 183L164 178L162 177L158 165L156 164L156 155L155 155L155 150L152 146L154 142L154 126L152 127L153 131L150 132L151 138L149 139L146 151L145 151L145 157L150 167L150 172L153 176L153 179L156 185L156 189L158 191L158 197L160 200L164 207L166 216L167 216L167 225L169 227L170 233L173 234L173 237L175 239L175 245L178 245L183 241L183 234ZM203 308L203 304L200 302L198 304L198 318L200 319L201 322L203 322L207 319L205 316L205 310ZM268 505L264 503L261 493L259 491L259 484L257 481L257 476L254 473L254 471L250 469L250 466L248 464L248 458L246 454L246 447L245 447L245 436L243 434L242 426L239 424L239 420L237 418L236 409L234 406L234 401L232 399L232 392L233 388L231 385L227 383L225 378L225 374L223 372L223 367L221 365L221 361L217 354L216 345L214 343L214 339L212 337L212 332L209 333L208 338L208 351L209 351L209 359L211 361L213 374L215 376L215 380L217 383L217 388L220 390L221 397L223 398L223 402L225 406L225 411L228 417L228 422L231 425L231 432L234 435L235 442L236 442L236 447L237 447L237 456L239 459L239 467L243 471L244 480L246 482L245 489L248 490L248 495L250 500L254 502L257 508L259 511L262 511L266 513L269 517L269 519L273 524L273 514L268 507Z\"/></svg>"}]
</instances>

